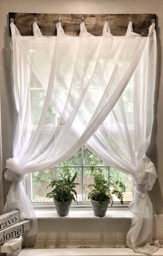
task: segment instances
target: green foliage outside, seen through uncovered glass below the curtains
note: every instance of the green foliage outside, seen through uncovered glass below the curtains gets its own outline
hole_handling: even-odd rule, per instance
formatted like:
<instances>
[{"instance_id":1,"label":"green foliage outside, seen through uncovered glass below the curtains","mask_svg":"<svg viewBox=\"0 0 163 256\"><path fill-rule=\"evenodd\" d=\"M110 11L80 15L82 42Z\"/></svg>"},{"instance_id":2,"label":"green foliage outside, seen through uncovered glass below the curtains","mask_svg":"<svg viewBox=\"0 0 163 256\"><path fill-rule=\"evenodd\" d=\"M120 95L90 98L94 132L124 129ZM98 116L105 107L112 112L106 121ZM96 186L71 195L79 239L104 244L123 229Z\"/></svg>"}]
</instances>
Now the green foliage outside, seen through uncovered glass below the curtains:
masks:
<instances>
[{"instance_id":1,"label":"green foliage outside, seen through uncovered glass below the curtains","mask_svg":"<svg viewBox=\"0 0 163 256\"><path fill-rule=\"evenodd\" d=\"M63 163L59 164L61 166L64 165L81 165L81 159L82 159L82 149L80 148L70 159L64 161ZM84 146L84 164L91 165L106 165L101 159L99 159L96 155L92 154L85 146ZM78 167L70 168L71 175L74 175L74 172L77 172L78 177L81 177L81 172ZM60 171L60 167L57 168L58 171ZM108 168L103 167L103 174L105 178L108 178ZM90 177L90 169L85 168L85 175L86 178ZM32 187L34 187L36 190L40 189L40 193L42 196L45 196L47 193L47 186L50 183L51 179L55 179L55 167L49 168L40 172L32 173ZM132 186L132 178L130 175L127 175L123 172L119 172L117 170L114 170L110 168L110 176L112 176L113 180L119 180L119 182L122 182L125 187L126 191L131 191ZM34 198L37 198L38 192L33 193L33 200Z\"/></svg>"}]
</instances>

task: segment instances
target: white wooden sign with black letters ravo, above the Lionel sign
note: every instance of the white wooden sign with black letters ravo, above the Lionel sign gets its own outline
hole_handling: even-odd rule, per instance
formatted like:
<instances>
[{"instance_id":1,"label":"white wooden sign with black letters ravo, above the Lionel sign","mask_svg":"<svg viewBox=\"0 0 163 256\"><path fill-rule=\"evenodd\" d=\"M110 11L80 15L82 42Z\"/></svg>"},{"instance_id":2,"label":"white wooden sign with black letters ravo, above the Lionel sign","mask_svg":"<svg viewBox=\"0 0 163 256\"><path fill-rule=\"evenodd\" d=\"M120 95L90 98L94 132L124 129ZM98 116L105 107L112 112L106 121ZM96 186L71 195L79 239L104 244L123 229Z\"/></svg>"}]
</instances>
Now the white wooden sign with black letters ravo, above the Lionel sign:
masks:
<instances>
[{"instance_id":1,"label":"white wooden sign with black letters ravo, above the Lionel sign","mask_svg":"<svg viewBox=\"0 0 163 256\"><path fill-rule=\"evenodd\" d=\"M20 210L16 209L0 216L0 231L20 221ZM1 239L0 239L1 240Z\"/></svg>"}]
</instances>

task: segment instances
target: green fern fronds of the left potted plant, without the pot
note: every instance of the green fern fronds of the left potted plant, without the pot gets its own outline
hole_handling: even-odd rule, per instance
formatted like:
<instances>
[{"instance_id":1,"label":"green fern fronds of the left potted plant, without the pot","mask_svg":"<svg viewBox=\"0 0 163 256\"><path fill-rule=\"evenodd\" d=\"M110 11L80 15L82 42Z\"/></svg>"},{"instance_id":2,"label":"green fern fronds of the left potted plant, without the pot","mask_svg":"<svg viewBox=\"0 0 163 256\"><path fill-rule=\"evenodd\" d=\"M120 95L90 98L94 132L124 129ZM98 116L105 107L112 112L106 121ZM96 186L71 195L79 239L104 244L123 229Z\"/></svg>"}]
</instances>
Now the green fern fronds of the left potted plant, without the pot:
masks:
<instances>
[{"instance_id":1,"label":"green fern fronds of the left potted plant, without the pot","mask_svg":"<svg viewBox=\"0 0 163 256\"><path fill-rule=\"evenodd\" d=\"M55 186L51 192L47 193L46 197L54 198L57 201L76 201L74 195L77 198L77 193L74 188L76 185L80 185L79 183L75 182L77 177L77 172L75 172L74 176L71 176L69 166L66 165L62 167L63 173L60 173L60 176L57 179L52 179L50 184L47 186L51 186L52 188Z\"/></svg>"}]
</instances>

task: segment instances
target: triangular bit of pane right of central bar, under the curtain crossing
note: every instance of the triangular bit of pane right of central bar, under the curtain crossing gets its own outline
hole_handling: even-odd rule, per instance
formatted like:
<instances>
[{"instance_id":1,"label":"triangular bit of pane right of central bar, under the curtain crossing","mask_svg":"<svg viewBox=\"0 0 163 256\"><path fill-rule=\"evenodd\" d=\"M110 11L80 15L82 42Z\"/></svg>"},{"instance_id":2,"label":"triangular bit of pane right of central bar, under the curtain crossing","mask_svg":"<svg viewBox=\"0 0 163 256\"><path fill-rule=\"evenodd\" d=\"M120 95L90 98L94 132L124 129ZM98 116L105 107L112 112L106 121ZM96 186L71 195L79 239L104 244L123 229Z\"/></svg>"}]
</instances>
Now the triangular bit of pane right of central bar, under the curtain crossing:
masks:
<instances>
[{"instance_id":1,"label":"triangular bit of pane right of central bar, under the curtain crossing","mask_svg":"<svg viewBox=\"0 0 163 256\"><path fill-rule=\"evenodd\" d=\"M84 165L107 165L84 146Z\"/></svg>"}]
</instances>

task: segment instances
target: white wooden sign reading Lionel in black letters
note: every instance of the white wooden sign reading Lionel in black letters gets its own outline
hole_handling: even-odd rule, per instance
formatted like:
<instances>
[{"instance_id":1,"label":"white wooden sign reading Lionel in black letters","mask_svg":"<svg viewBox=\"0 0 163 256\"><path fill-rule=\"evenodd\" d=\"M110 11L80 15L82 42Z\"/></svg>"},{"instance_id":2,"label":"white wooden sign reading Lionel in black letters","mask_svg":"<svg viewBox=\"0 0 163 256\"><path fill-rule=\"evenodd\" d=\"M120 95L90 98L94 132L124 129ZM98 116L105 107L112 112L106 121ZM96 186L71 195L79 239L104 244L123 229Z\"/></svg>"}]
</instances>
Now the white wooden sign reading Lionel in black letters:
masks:
<instances>
[{"instance_id":1,"label":"white wooden sign reading Lionel in black letters","mask_svg":"<svg viewBox=\"0 0 163 256\"><path fill-rule=\"evenodd\" d=\"M11 227L8 227L0 231L0 244L9 241L13 238L19 237L20 235L30 230L30 221L22 220Z\"/></svg>"}]
</instances>

